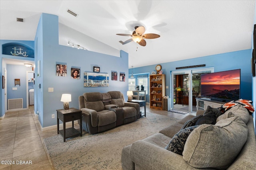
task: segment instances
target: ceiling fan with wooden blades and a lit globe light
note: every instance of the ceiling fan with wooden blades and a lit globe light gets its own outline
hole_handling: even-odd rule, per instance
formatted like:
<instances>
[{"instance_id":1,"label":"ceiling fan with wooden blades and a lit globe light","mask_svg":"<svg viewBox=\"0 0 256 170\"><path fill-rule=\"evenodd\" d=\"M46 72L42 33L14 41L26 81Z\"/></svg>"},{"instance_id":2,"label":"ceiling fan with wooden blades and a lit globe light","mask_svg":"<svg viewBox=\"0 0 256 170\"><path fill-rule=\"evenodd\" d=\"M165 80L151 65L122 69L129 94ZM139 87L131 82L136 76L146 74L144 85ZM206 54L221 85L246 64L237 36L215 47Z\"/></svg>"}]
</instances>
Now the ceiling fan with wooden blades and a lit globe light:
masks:
<instances>
[{"instance_id":1,"label":"ceiling fan with wooden blades and a lit globe light","mask_svg":"<svg viewBox=\"0 0 256 170\"><path fill-rule=\"evenodd\" d=\"M128 39L124 42L119 41L120 43L122 43L122 45L130 43L131 41L134 41L136 43L138 43L141 46L146 46L146 41L144 40L144 38L146 39L154 39L154 38L158 38L160 37L160 35L158 34L153 34L153 33L148 33L148 34L143 34L145 32L145 27L143 26L136 26L134 27L135 31L132 32L131 34L116 34L116 35L122 35L122 36L131 36L131 39Z\"/></svg>"}]
</instances>

